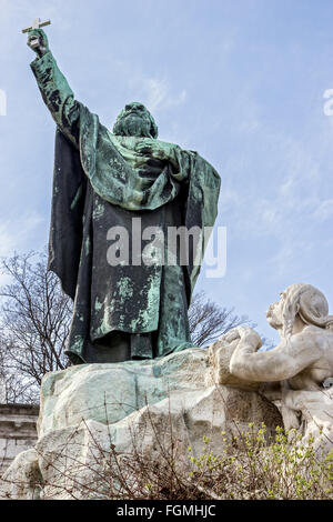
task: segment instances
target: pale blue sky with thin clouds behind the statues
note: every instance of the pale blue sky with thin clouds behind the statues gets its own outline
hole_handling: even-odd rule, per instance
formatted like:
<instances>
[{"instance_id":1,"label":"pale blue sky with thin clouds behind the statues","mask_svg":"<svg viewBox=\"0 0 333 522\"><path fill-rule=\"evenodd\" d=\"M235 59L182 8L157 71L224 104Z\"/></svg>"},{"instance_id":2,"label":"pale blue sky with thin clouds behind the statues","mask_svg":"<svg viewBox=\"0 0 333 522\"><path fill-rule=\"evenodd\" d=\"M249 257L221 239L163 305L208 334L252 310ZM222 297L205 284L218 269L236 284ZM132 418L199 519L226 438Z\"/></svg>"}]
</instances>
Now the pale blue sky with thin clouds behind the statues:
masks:
<instances>
[{"instance_id":1,"label":"pale blue sky with thin clouds behind the statues","mask_svg":"<svg viewBox=\"0 0 333 522\"><path fill-rule=\"evenodd\" d=\"M54 123L21 34L36 17L104 124L142 101L162 140L220 172L228 268L198 290L272 339L264 311L291 283L320 288L332 313L332 0L0 0L0 255L48 241Z\"/></svg>"}]
</instances>

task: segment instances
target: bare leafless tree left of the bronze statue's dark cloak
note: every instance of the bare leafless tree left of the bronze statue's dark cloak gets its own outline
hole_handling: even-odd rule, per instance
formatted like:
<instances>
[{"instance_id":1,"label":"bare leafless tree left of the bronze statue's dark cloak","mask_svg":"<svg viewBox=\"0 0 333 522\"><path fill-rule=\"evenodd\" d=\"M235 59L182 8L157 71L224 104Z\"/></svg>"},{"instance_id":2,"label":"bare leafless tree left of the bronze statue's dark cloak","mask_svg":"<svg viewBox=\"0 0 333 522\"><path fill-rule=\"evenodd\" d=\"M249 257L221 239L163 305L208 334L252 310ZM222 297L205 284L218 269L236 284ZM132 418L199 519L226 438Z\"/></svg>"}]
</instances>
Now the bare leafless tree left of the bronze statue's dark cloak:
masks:
<instances>
[{"instance_id":1,"label":"bare leafless tree left of the bronze statue's dark cloak","mask_svg":"<svg viewBox=\"0 0 333 522\"><path fill-rule=\"evenodd\" d=\"M47 270L46 253L2 260L0 368L8 402L33 402L47 372L68 367L71 301Z\"/></svg>"}]
</instances>

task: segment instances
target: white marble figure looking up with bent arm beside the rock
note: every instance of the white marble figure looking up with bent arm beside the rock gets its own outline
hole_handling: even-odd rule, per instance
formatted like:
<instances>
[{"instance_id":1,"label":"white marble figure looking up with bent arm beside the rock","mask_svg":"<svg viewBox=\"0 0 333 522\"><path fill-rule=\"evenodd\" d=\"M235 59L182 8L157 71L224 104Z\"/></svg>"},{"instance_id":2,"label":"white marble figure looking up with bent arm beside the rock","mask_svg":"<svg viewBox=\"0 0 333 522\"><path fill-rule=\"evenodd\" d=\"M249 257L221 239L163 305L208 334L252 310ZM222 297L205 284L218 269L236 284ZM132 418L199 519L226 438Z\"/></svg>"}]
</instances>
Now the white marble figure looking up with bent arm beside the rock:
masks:
<instances>
[{"instance_id":1,"label":"white marble figure looking up with bent arm beside the rock","mask_svg":"<svg viewBox=\"0 0 333 522\"><path fill-rule=\"evenodd\" d=\"M259 352L262 341L250 327L230 331L224 341L238 340L230 373L250 382L279 382L285 428L312 434L317 448L333 448L333 315L325 297L310 284L292 284L266 318L280 344Z\"/></svg>"}]
</instances>

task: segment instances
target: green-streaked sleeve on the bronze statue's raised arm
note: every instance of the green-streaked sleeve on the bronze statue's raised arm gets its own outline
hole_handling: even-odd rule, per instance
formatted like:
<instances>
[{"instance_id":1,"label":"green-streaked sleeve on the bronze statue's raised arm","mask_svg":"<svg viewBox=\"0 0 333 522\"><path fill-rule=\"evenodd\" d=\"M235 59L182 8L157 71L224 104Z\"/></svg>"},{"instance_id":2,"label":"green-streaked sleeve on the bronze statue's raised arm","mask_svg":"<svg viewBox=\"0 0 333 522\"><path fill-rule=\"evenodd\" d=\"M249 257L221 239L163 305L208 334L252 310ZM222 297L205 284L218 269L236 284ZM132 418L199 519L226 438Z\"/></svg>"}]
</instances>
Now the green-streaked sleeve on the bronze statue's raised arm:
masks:
<instances>
[{"instance_id":1,"label":"green-streaked sleeve on the bronze statue's raised arm","mask_svg":"<svg viewBox=\"0 0 333 522\"><path fill-rule=\"evenodd\" d=\"M80 107L51 51L31 63L43 101L60 130L79 147Z\"/></svg>"}]
</instances>

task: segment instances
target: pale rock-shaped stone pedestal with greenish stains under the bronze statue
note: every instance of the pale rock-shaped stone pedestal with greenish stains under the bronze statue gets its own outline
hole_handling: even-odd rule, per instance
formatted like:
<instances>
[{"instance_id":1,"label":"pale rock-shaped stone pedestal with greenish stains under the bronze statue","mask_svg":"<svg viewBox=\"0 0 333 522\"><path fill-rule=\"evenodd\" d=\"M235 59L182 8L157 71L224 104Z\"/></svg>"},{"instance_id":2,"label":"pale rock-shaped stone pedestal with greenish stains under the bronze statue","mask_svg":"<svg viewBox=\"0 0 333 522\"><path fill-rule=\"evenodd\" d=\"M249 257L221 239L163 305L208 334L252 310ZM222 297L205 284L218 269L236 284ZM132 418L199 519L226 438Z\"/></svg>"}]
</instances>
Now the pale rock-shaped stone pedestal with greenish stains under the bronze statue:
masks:
<instances>
[{"instance_id":1,"label":"pale rock-shaped stone pedestal with greenish stains under the bronze statue","mask_svg":"<svg viewBox=\"0 0 333 522\"><path fill-rule=\"evenodd\" d=\"M278 409L255 390L215 382L206 350L190 349L161 360L84 364L46 375L36 449L21 454L4 479L13 498L91 498L112 455L161 462L172 449L176 466L223 450L222 431L264 422L282 425ZM163 451L164 451L163 450ZM34 452L34 453L33 453ZM99 493L102 495L102 486Z\"/></svg>"}]
</instances>

